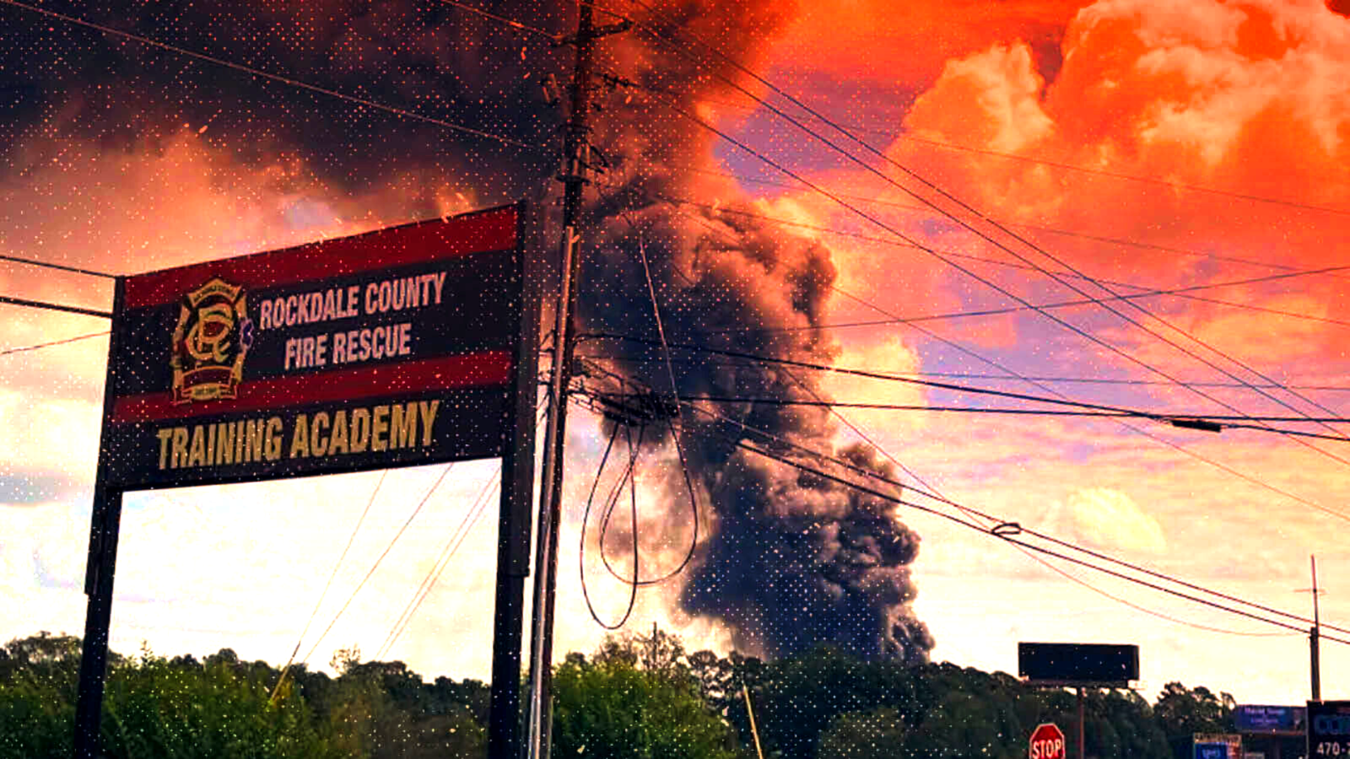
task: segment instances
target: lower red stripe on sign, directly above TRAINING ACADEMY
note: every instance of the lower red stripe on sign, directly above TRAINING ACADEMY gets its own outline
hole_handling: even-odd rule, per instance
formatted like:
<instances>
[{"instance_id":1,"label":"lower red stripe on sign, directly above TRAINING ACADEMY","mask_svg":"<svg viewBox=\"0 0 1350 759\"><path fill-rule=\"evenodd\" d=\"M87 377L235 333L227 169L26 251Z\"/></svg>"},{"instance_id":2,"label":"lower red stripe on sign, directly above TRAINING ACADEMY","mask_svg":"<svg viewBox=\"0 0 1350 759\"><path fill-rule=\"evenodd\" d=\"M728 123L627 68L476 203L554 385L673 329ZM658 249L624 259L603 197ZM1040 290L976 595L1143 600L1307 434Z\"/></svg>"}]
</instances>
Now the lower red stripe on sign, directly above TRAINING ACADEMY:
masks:
<instances>
[{"instance_id":1,"label":"lower red stripe on sign, directly above TRAINING ACADEMY","mask_svg":"<svg viewBox=\"0 0 1350 759\"><path fill-rule=\"evenodd\" d=\"M481 351L374 367L338 369L304 377L275 377L239 385L234 400L174 405L171 393L123 396L113 401L113 424L188 419L213 413L273 411L302 404L356 401L423 390L506 385L510 351Z\"/></svg>"}]
</instances>

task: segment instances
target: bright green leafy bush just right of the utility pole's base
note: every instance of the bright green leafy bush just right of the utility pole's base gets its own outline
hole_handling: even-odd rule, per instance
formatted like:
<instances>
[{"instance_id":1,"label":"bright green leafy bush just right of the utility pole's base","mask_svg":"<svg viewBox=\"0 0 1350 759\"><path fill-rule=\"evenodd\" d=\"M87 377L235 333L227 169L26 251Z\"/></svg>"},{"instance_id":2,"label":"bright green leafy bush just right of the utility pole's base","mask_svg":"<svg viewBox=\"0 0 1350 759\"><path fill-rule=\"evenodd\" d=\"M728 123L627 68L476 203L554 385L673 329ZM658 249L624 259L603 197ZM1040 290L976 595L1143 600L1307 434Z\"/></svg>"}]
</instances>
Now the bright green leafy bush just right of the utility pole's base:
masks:
<instances>
[{"instance_id":1,"label":"bright green leafy bush just right of the utility pole's base","mask_svg":"<svg viewBox=\"0 0 1350 759\"><path fill-rule=\"evenodd\" d=\"M733 759L730 727L693 678L626 656L570 658L554 675L554 755Z\"/></svg>"}]
</instances>

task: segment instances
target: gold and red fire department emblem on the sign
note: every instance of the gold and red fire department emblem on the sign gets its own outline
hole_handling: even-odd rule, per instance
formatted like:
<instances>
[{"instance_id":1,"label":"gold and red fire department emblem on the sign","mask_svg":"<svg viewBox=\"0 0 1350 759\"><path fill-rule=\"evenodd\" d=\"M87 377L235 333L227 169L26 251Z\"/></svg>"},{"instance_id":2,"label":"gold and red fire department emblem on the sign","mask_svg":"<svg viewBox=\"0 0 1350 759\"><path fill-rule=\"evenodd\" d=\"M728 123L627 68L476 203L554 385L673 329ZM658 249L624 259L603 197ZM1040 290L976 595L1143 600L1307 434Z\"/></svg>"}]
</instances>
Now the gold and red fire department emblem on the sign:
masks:
<instances>
[{"instance_id":1,"label":"gold and red fire department emblem on the sign","mask_svg":"<svg viewBox=\"0 0 1350 759\"><path fill-rule=\"evenodd\" d=\"M173 402L236 397L252 338L242 286L212 278L188 293L173 332Z\"/></svg>"}]
</instances>

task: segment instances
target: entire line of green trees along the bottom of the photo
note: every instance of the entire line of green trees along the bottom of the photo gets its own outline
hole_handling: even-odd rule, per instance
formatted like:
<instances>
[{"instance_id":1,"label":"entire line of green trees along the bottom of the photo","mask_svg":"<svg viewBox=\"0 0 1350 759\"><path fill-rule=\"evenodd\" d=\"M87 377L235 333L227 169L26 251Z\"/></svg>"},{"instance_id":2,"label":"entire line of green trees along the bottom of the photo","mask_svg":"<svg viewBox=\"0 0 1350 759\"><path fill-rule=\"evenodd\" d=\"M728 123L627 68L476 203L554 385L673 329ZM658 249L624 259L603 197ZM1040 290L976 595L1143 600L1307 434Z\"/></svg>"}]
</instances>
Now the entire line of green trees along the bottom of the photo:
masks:
<instances>
[{"instance_id":1,"label":"entire line of green trees along the bottom of the photo","mask_svg":"<svg viewBox=\"0 0 1350 759\"><path fill-rule=\"evenodd\" d=\"M103 737L109 758L482 758L489 689L425 682L401 662L333 658L338 677L231 650L197 660L109 656ZM0 648L0 759L70 755L80 640ZM829 648L776 662L687 652L678 637L608 639L555 670L554 756L636 759L1022 758L1040 723L1076 751L1076 701L1004 673L864 663ZM756 729L751 728L753 706ZM1085 754L1189 756L1195 732L1231 732L1233 700L1169 683L1150 704L1127 690L1085 698Z\"/></svg>"}]
</instances>

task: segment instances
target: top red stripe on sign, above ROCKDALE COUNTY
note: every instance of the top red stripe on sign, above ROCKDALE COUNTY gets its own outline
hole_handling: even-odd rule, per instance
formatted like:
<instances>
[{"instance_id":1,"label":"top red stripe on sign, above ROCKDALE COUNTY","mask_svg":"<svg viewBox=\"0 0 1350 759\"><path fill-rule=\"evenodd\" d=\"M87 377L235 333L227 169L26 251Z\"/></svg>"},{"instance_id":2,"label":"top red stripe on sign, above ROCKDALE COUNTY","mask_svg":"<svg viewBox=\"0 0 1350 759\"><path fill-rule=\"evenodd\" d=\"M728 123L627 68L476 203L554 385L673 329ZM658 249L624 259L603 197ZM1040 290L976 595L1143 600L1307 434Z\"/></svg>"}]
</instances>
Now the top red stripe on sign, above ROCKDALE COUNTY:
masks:
<instances>
[{"instance_id":1,"label":"top red stripe on sign, above ROCKDALE COUNTY","mask_svg":"<svg viewBox=\"0 0 1350 759\"><path fill-rule=\"evenodd\" d=\"M363 235L335 238L163 269L127 278L126 308L173 303L212 277L231 285L266 288L325 280L375 269L458 258L516 247L516 207L454 219L433 219Z\"/></svg>"}]
</instances>

